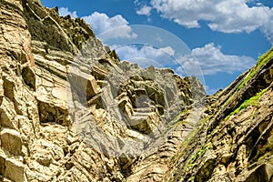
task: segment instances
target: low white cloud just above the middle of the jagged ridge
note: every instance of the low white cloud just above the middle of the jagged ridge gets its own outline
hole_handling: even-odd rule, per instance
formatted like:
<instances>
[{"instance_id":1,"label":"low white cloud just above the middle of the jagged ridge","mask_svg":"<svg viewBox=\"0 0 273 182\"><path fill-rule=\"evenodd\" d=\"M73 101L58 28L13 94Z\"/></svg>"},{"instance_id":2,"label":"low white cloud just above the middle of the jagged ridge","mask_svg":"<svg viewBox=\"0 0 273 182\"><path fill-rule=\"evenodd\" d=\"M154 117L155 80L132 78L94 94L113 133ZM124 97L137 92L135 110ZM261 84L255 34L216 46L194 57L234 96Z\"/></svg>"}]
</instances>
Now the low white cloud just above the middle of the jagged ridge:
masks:
<instances>
[{"instance_id":1,"label":"low white cloud just above the middle of the jagged ridge","mask_svg":"<svg viewBox=\"0 0 273 182\"><path fill-rule=\"evenodd\" d=\"M157 66L166 67L173 65L175 50L166 46L163 48L155 48L150 45L144 45L137 48L135 45L114 45L111 48L116 49L118 56L123 60L137 63L141 67Z\"/></svg>"}]
</instances>

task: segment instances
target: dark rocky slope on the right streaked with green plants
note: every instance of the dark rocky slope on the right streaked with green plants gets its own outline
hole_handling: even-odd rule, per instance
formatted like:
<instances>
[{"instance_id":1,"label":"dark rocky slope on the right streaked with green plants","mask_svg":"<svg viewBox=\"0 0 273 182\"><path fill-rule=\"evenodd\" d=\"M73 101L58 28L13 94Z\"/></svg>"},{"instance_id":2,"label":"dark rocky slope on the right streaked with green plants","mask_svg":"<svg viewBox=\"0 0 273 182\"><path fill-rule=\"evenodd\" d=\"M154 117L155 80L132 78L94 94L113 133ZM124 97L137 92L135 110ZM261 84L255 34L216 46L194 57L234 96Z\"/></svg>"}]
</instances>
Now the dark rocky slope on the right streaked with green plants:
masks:
<instances>
[{"instance_id":1,"label":"dark rocky slope on the right streaked with green plants","mask_svg":"<svg viewBox=\"0 0 273 182\"><path fill-rule=\"evenodd\" d=\"M273 49L209 96L203 126L170 163L171 181L272 181Z\"/></svg>"}]
</instances>

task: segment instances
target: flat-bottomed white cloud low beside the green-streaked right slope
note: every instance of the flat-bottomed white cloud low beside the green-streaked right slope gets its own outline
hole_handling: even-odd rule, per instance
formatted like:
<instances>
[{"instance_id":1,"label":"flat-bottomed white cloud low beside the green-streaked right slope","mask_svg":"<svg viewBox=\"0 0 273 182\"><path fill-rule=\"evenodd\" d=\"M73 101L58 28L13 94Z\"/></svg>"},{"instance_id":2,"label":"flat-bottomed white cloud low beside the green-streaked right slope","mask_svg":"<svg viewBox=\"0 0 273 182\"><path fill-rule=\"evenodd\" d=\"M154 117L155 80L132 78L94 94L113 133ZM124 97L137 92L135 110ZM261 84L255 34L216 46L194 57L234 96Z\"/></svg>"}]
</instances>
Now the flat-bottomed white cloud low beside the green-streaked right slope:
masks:
<instances>
[{"instance_id":1,"label":"flat-bottomed white cloud low beside the green-streaked right slope","mask_svg":"<svg viewBox=\"0 0 273 182\"><path fill-rule=\"evenodd\" d=\"M179 62L177 73L182 75L214 75L220 72L231 74L255 65L252 57L225 55L221 47L213 43L193 49L191 55L181 56Z\"/></svg>"}]
</instances>

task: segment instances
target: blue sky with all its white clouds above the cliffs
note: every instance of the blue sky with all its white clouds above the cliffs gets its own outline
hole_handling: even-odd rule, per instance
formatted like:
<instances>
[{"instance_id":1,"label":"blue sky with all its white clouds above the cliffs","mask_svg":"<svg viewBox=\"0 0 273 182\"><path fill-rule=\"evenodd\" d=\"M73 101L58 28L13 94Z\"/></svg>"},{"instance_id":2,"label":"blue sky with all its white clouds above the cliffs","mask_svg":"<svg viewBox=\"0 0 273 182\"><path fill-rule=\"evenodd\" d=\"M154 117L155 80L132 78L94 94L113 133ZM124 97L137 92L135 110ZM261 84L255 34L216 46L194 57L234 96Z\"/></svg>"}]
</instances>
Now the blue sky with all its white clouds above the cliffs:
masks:
<instances>
[{"instance_id":1,"label":"blue sky with all its white clouds above the cliffs","mask_svg":"<svg viewBox=\"0 0 273 182\"><path fill-rule=\"evenodd\" d=\"M42 0L80 17L120 58L225 88L273 45L272 0Z\"/></svg>"}]
</instances>

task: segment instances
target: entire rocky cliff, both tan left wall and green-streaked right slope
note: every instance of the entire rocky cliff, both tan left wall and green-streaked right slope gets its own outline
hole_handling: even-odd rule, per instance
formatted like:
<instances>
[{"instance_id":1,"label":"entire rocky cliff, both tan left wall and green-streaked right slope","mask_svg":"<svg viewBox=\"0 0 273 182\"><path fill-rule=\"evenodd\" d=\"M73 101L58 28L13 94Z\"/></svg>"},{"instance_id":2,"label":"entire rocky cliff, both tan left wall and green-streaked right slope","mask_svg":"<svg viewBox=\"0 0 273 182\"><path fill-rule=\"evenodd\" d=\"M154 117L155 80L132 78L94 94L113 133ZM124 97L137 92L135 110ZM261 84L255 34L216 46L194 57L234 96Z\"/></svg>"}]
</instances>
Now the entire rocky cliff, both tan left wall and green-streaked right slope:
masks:
<instances>
[{"instance_id":1,"label":"entire rocky cliff, both tan left wall and green-streaked right slope","mask_svg":"<svg viewBox=\"0 0 273 182\"><path fill-rule=\"evenodd\" d=\"M272 181L272 51L206 99L57 8L0 5L2 180Z\"/></svg>"}]
</instances>

